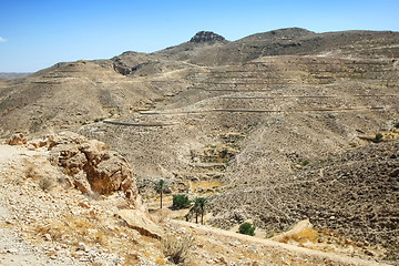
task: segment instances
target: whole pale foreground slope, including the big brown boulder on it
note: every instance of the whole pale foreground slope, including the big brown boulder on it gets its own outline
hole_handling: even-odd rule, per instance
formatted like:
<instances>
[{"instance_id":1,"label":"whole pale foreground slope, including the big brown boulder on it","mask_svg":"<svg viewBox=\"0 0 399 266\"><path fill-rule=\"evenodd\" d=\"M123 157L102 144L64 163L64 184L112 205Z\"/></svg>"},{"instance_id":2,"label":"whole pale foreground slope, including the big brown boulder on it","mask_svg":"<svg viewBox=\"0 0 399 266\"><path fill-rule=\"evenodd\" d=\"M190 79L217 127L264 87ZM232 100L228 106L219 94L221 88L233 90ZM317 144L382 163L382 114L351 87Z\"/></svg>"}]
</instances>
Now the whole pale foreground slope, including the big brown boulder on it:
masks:
<instances>
[{"instance_id":1,"label":"whole pale foreground slope, including the big brown boulder on it","mask_svg":"<svg viewBox=\"0 0 399 266\"><path fill-rule=\"evenodd\" d=\"M151 217L129 193L129 165L94 140L64 132L10 143L0 145L1 265L383 265Z\"/></svg>"}]
</instances>

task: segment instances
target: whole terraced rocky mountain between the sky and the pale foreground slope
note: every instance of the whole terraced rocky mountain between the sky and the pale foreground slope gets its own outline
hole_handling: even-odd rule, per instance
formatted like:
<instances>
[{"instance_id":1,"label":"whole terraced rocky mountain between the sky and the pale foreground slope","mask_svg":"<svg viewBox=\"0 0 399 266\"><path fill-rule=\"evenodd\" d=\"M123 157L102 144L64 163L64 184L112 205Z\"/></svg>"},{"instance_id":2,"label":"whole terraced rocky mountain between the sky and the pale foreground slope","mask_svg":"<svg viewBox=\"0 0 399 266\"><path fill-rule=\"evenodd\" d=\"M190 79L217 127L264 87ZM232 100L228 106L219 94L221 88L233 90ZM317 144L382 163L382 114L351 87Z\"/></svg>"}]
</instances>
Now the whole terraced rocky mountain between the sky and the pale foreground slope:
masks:
<instances>
[{"instance_id":1,"label":"whole terraced rocky mountain between the sky and the pale foreground slope","mask_svg":"<svg viewBox=\"0 0 399 266\"><path fill-rule=\"evenodd\" d=\"M212 224L279 233L309 218L395 254L398 43L389 31L198 32L59 63L0 82L0 135L68 129L121 152L144 197L160 178L214 195ZM193 188L204 182L221 185Z\"/></svg>"}]
</instances>

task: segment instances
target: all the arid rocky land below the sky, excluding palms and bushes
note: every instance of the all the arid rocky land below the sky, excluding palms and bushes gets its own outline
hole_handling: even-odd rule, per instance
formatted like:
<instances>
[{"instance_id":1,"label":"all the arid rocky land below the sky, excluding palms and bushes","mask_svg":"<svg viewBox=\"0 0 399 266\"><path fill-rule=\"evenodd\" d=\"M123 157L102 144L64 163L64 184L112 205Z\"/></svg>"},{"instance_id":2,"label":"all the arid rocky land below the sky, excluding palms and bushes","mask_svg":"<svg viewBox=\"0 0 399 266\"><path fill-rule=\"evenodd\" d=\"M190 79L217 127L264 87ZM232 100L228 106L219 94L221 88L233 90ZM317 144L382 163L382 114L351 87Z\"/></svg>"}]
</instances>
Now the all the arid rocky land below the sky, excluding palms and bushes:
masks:
<instances>
[{"instance_id":1,"label":"all the arid rocky land below the sky, excluding palms and bushes","mask_svg":"<svg viewBox=\"0 0 399 266\"><path fill-rule=\"evenodd\" d=\"M203 31L0 80L0 259L173 265L174 235L187 265L397 264L398 58L390 31Z\"/></svg>"}]
</instances>

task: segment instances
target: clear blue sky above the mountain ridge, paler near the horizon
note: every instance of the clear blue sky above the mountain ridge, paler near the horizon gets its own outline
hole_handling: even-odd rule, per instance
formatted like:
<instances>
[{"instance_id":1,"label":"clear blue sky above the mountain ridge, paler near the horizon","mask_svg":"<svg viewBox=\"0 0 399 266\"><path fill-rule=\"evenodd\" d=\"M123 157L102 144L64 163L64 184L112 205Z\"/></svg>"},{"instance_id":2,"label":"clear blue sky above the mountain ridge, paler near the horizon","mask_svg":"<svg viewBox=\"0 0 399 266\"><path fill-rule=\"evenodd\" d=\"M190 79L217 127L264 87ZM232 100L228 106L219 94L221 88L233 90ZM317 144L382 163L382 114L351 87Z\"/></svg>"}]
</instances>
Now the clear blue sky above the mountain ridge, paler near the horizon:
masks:
<instances>
[{"instance_id":1,"label":"clear blue sky above the mountain ridge, paler near the horizon","mask_svg":"<svg viewBox=\"0 0 399 266\"><path fill-rule=\"evenodd\" d=\"M211 30L228 40L300 27L399 31L399 0L0 0L0 72L153 52Z\"/></svg>"}]
</instances>

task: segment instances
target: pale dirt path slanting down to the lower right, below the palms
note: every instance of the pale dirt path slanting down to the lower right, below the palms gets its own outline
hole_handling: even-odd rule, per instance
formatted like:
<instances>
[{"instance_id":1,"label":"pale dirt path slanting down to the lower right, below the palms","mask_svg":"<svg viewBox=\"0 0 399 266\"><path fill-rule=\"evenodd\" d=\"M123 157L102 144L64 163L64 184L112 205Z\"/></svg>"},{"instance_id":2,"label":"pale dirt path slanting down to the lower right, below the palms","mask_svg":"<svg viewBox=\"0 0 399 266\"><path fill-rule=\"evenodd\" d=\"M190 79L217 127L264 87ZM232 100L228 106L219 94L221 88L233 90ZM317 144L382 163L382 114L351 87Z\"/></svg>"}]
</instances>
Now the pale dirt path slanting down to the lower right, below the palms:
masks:
<instances>
[{"instance_id":1,"label":"pale dirt path slanting down to the lower right, below the palms","mask_svg":"<svg viewBox=\"0 0 399 266\"><path fill-rule=\"evenodd\" d=\"M324 253L319 250L314 249L307 249L298 246L293 246L288 244L283 244L279 242L274 242L269 239L263 239L258 237L247 236L237 234L229 231L223 231L219 228L213 228L209 226L202 226L198 224L187 223L184 221L171 221L172 224L177 226L185 226L190 227L196 232L202 232L203 234L212 234L216 236L221 236L221 238L234 238L239 239L242 242L248 242L252 244L262 245L266 249L268 249L270 253L275 254L276 256L282 256L284 254L290 254L291 257L303 257L306 258L311 264L323 264L323 265L356 265L356 266L372 266L372 265L387 265L382 263L377 263L372 260L365 260L360 258L355 257L348 257L348 256L340 256L336 254L330 253Z\"/></svg>"}]
</instances>

